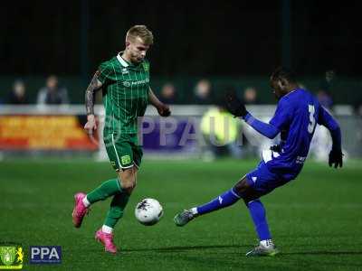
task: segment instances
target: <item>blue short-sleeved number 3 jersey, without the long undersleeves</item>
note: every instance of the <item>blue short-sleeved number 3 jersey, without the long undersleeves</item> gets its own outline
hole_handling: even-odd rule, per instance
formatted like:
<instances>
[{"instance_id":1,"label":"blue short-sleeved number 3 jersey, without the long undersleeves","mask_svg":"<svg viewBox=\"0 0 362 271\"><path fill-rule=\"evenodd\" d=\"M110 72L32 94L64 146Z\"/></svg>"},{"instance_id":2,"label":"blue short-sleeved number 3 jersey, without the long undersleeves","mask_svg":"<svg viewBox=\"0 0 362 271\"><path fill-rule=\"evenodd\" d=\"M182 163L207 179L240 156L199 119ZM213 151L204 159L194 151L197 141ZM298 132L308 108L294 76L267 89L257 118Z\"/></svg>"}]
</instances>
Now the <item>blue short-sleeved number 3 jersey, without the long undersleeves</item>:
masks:
<instances>
[{"instance_id":1,"label":"blue short-sleeved number 3 jersey, without the long undersleeves","mask_svg":"<svg viewBox=\"0 0 362 271\"><path fill-rule=\"evenodd\" d=\"M263 152L263 160L271 173L284 179L294 179L304 164L310 150L316 124L324 124L325 109L305 89L295 89L283 96L269 122L282 131L284 139L281 153Z\"/></svg>"}]
</instances>

